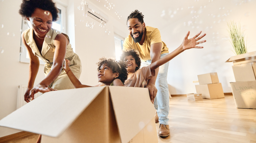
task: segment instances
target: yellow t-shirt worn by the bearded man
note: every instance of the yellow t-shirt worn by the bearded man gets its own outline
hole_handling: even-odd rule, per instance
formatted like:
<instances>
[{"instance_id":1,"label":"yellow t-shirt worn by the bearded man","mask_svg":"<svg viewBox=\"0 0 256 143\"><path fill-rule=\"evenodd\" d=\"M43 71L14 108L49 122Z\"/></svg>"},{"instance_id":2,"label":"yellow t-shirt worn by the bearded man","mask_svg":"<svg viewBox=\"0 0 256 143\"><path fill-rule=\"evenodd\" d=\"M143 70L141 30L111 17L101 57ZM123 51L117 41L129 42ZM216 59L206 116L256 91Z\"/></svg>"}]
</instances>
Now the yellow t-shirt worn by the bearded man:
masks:
<instances>
[{"instance_id":1,"label":"yellow t-shirt worn by the bearded man","mask_svg":"<svg viewBox=\"0 0 256 143\"><path fill-rule=\"evenodd\" d=\"M161 40L160 31L157 28L146 26L145 31L145 40L143 45L140 45L139 43L135 43L133 41L133 38L129 35L125 38L123 42L123 50L127 49L135 49L139 51L139 56L142 61L150 60L150 45L154 43L162 43L162 52L163 53L169 53L168 48L166 44Z\"/></svg>"}]
</instances>

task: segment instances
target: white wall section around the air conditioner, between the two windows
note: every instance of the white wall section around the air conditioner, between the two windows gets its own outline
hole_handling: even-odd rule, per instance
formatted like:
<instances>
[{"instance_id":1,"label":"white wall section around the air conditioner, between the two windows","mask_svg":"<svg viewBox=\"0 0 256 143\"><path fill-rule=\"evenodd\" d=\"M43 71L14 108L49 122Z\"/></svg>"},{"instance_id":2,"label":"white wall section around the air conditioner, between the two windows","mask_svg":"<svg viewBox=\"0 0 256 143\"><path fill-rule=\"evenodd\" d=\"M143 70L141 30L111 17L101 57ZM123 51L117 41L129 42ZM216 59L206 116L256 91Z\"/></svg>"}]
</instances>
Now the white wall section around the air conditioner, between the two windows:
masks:
<instances>
[{"instance_id":1,"label":"white wall section around the air conditioner, between the two windows","mask_svg":"<svg viewBox=\"0 0 256 143\"><path fill-rule=\"evenodd\" d=\"M90 4L94 5L90 1ZM77 8L80 6L80 10ZM96 5L94 5L96 6ZM121 24L112 16L109 16L109 22L105 27L99 26L99 22L83 13L81 0L74 0L75 8L75 53L82 62L82 74L80 81L82 84L94 86L99 84L97 78L98 59L106 57L115 57L114 26L119 30L127 32L125 24ZM98 8L96 6L96 8ZM83 9L83 10L82 10ZM102 9L98 8L103 11ZM107 13L105 13L107 14ZM95 23L93 28L86 27L86 23ZM105 32L107 31L107 33ZM110 33L109 33L110 31Z\"/></svg>"}]
</instances>

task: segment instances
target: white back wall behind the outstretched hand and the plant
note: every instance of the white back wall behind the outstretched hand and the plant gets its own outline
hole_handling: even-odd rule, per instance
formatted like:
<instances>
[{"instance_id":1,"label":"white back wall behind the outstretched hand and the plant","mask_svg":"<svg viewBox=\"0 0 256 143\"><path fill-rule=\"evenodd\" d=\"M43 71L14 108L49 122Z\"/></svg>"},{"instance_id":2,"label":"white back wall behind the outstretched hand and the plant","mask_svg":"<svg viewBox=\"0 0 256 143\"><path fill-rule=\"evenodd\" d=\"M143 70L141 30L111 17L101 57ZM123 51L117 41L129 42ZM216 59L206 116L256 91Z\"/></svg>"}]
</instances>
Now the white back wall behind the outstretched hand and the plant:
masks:
<instances>
[{"instance_id":1,"label":"white back wall behind the outstretched hand and the plant","mask_svg":"<svg viewBox=\"0 0 256 143\"><path fill-rule=\"evenodd\" d=\"M235 82L231 67L233 64L224 63L229 57L235 56L230 50L232 45L229 42L227 21L241 21L250 46L249 52L255 51L255 6L255 0L215 0L205 8L196 10L196 13L160 29L162 41L167 44L170 52L181 45L189 30L189 38L200 30L207 34L202 39L207 40L205 44L201 44L203 49L187 50L170 61L167 81L172 87L169 89L171 94L196 92L196 84L192 81L198 80L197 75L209 72L217 72L224 92L232 92L228 82ZM198 18L192 18L197 15ZM192 24L188 25L189 21Z\"/></svg>"}]
</instances>

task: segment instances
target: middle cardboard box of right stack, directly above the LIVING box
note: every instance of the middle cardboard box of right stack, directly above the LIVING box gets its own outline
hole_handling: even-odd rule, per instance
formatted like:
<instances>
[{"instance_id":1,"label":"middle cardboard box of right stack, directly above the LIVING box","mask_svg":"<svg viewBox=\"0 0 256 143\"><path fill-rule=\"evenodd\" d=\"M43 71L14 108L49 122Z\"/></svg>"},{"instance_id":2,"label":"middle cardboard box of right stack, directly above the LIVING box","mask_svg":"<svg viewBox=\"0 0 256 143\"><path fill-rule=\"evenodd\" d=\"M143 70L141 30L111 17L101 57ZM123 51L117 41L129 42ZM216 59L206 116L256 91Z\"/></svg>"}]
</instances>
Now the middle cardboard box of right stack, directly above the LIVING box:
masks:
<instances>
[{"instance_id":1,"label":"middle cardboard box of right stack, directly above the LIVING box","mask_svg":"<svg viewBox=\"0 0 256 143\"><path fill-rule=\"evenodd\" d=\"M256 62L239 64L232 66L236 82L254 81L256 72Z\"/></svg>"}]
</instances>

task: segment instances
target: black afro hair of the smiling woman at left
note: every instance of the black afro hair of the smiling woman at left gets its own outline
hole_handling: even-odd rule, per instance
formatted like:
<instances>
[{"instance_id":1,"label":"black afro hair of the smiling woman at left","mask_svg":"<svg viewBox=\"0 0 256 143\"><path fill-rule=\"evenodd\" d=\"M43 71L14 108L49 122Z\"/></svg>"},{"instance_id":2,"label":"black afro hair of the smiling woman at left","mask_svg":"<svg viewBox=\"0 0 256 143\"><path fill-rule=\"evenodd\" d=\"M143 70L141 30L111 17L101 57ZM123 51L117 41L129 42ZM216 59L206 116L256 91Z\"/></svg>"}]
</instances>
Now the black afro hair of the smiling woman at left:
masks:
<instances>
[{"instance_id":1,"label":"black afro hair of the smiling woman at left","mask_svg":"<svg viewBox=\"0 0 256 143\"><path fill-rule=\"evenodd\" d=\"M53 21L58 20L59 10L53 0L22 0L19 14L26 20L26 17L31 17L36 8L50 11L53 16Z\"/></svg>"}]
</instances>

